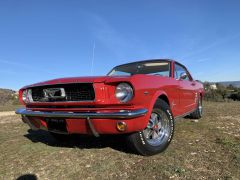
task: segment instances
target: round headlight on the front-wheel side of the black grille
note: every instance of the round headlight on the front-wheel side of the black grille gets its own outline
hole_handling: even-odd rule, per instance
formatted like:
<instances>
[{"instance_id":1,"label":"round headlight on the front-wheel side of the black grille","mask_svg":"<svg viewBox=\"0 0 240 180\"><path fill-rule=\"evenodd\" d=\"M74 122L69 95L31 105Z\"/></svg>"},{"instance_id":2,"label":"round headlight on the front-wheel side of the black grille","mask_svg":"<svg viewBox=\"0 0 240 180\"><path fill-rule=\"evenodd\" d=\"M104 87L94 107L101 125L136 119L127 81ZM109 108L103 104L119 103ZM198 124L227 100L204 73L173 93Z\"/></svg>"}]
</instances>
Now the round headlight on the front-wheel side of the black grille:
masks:
<instances>
[{"instance_id":1,"label":"round headlight on the front-wheel side of the black grille","mask_svg":"<svg viewBox=\"0 0 240 180\"><path fill-rule=\"evenodd\" d=\"M128 102L133 97L133 89L128 83L120 83L116 87L115 96L120 102Z\"/></svg>"}]
</instances>

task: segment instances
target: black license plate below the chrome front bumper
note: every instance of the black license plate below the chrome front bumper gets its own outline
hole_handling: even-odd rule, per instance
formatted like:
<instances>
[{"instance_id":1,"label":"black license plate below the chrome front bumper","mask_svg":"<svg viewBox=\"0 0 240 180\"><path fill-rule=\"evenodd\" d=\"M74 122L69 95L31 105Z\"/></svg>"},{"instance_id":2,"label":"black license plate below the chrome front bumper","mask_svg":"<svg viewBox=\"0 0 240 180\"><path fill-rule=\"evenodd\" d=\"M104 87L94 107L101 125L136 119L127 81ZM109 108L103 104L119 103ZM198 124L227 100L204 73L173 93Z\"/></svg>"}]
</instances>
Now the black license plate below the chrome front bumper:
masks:
<instances>
[{"instance_id":1,"label":"black license plate below the chrome front bumper","mask_svg":"<svg viewBox=\"0 0 240 180\"><path fill-rule=\"evenodd\" d=\"M63 119L63 118L46 118L45 121L47 123L49 131L67 133L66 119Z\"/></svg>"}]
</instances>

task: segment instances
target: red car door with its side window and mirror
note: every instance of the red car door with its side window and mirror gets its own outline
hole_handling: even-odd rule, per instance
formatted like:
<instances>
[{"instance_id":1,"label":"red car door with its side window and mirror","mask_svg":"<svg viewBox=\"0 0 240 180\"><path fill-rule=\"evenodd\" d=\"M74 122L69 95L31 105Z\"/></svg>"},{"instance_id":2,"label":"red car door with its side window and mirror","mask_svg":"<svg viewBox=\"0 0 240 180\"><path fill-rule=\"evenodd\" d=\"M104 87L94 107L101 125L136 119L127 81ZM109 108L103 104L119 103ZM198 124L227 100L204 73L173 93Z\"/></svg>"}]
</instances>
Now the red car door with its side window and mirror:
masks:
<instances>
[{"instance_id":1,"label":"red car door with its side window and mirror","mask_svg":"<svg viewBox=\"0 0 240 180\"><path fill-rule=\"evenodd\" d=\"M196 106L195 83L187 69L179 63L174 65L174 78L178 81L179 104L182 114L192 111Z\"/></svg>"}]
</instances>

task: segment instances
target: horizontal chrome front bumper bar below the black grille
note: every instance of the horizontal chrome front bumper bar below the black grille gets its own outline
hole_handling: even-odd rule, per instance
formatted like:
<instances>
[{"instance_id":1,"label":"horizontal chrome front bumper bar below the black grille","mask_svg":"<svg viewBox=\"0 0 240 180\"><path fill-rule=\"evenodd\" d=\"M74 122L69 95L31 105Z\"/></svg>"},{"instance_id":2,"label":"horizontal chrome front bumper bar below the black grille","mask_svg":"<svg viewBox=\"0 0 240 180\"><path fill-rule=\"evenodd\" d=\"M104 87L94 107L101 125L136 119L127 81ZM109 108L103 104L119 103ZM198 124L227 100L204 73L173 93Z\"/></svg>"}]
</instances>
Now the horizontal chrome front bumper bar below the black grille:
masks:
<instances>
[{"instance_id":1,"label":"horizontal chrome front bumper bar below the black grille","mask_svg":"<svg viewBox=\"0 0 240 180\"><path fill-rule=\"evenodd\" d=\"M31 117L62 117L62 118L93 118L93 119L129 119L144 116L147 109L121 110L118 112L43 112L31 111L25 108L16 110L16 114Z\"/></svg>"}]
</instances>

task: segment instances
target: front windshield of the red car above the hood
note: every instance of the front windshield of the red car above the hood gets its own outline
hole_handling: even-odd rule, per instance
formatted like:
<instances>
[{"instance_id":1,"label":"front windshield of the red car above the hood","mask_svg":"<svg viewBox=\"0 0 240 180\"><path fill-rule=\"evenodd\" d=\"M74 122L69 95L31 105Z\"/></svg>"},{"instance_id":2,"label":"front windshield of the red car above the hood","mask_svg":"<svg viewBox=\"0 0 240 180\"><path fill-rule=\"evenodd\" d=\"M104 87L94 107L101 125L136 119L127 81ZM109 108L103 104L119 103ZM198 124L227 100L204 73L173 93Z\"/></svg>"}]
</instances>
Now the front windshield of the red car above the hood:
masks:
<instances>
[{"instance_id":1,"label":"front windshield of the red car above the hood","mask_svg":"<svg viewBox=\"0 0 240 180\"><path fill-rule=\"evenodd\" d=\"M134 74L149 74L170 77L170 62L147 61L124 64L113 68L108 76L131 76Z\"/></svg>"}]
</instances>

